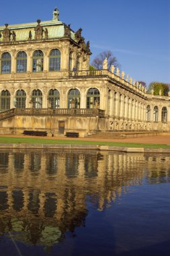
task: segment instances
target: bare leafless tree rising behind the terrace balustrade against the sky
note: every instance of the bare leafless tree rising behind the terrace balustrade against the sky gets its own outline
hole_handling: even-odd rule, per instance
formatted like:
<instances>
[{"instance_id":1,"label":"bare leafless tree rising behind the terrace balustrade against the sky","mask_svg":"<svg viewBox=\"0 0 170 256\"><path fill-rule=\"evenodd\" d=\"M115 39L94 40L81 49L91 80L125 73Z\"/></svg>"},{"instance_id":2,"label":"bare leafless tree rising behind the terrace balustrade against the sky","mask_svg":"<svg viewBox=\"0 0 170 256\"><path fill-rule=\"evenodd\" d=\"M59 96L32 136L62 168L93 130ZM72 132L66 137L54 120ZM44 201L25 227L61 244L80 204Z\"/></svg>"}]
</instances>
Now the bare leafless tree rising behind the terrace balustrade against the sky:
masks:
<instances>
[{"instance_id":1,"label":"bare leafless tree rising behind the terrace balustrade against the sky","mask_svg":"<svg viewBox=\"0 0 170 256\"><path fill-rule=\"evenodd\" d=\"M118 63L112 51L104 51L103 53L100 53L97 55L97 57L95 57L95 59L93 59L91 65L95 67L95 69L103 69L103 61L105 58L108 59L108 70L110 70L112 65L115 67L120 67L120 64Z\"/></svg>"}]
</instances>

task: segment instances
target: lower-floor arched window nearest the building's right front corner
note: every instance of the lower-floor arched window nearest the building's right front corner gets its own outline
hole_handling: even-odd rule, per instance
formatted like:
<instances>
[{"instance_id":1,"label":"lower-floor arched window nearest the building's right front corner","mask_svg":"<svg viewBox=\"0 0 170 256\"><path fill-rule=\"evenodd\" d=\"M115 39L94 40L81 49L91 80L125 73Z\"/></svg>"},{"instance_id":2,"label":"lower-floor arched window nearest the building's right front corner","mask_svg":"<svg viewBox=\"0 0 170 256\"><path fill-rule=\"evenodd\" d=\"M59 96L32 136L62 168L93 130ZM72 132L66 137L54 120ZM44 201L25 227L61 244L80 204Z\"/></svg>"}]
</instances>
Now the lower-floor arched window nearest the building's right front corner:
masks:
<instances>
[{"instance_id":1,"label":"lower-floor arched window nearest the building's right front corner","mask_svg":"<svg viewBox=\"0 0 170 256\"><path fill-rule=\"evenodd\" d=\"M90 88L87 92L87 108L99 108L99 90Z\"/></svg>"}]
</instances>

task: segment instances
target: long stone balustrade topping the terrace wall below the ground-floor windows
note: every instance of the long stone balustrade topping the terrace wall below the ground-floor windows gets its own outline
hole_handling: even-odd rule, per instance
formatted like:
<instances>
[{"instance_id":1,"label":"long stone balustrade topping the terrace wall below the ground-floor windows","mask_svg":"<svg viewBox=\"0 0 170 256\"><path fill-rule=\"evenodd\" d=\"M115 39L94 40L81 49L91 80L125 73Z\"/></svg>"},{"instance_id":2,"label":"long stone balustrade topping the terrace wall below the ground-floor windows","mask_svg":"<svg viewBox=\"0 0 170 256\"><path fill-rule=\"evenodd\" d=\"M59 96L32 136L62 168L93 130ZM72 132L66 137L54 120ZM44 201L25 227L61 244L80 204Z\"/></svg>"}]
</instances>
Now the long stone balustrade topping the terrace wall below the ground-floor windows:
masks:
<instances>
[{"instance_id":1,"label":"long stone balustrade topping the terrace wall below the ground-floor windows","mask_svg":"<svg viewBox=\"0 0 170 256\"><path fill-rule=\"evenodd\" d=\"M1 112L0 120L13 117L14 115L105 117L105 111L97 108L12 108Z\"/></svg>"}]
</instances>

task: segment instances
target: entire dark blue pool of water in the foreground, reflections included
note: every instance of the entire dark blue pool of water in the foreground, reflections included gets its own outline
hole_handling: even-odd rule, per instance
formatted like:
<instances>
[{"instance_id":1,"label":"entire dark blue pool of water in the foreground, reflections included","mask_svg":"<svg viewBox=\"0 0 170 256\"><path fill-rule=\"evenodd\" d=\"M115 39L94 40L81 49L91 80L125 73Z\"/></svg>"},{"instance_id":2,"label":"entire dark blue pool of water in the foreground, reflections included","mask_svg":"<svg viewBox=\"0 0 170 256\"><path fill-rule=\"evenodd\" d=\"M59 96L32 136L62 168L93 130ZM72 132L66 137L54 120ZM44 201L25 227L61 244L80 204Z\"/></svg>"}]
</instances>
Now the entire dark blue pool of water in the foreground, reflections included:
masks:
<instances>
[{"instance_id":1,"label":"entire dark blue pool of water in the foreground, reflections included","mask_svg":"<svg viewBox=\"0 0 170 256\"><path fill-rule=\"evenodd\" d=\"M0 150L1 256L169 253L170 156Z\"/></svg>"}]
</instances>

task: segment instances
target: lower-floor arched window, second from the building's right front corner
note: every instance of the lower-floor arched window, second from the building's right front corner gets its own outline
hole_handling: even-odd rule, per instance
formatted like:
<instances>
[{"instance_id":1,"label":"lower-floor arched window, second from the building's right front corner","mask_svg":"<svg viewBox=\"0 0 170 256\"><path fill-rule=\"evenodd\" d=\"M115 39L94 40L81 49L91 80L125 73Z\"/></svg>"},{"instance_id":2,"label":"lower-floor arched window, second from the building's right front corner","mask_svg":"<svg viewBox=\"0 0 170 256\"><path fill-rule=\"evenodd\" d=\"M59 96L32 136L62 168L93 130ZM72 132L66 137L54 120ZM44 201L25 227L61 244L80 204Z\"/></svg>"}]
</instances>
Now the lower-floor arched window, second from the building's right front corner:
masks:
<instances>
[{"instance_id":1,"label":"lower-floor arched window, second from the building's right front corner","mask_svg":"<svg viewBox=\"0 0 170 256\"><path fill-rule=\"evenodd\" d=\"M80 92L77 89L69 90L68 108L80 108Z\"/></svg>"}]
</instances>

